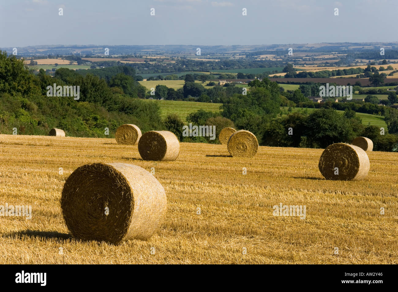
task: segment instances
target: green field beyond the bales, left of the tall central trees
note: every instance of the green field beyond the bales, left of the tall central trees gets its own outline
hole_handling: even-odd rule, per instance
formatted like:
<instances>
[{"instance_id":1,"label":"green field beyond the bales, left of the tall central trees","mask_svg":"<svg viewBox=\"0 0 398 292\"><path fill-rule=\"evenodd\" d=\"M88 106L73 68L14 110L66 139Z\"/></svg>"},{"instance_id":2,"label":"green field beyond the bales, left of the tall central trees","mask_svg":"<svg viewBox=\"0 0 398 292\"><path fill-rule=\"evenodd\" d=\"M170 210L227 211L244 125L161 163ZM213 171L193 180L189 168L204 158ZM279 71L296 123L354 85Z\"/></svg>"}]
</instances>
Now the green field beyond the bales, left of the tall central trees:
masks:
<instances>
[{"instance_id":1,"label":"green field beyond the bales, left of the tall central trees","mask_svg":"<svg viewBox=\"0 0 398 292\"><path fill-rule=\"evenodd\" d=\"M160 116L164 119L168 114L176 113L181 120L186 121L187 116L197 110L219 112L222 104L211 102L184 102L177 100L149 100L147 102L158 102L160 105Z\"/></svg>"}]
</instances>

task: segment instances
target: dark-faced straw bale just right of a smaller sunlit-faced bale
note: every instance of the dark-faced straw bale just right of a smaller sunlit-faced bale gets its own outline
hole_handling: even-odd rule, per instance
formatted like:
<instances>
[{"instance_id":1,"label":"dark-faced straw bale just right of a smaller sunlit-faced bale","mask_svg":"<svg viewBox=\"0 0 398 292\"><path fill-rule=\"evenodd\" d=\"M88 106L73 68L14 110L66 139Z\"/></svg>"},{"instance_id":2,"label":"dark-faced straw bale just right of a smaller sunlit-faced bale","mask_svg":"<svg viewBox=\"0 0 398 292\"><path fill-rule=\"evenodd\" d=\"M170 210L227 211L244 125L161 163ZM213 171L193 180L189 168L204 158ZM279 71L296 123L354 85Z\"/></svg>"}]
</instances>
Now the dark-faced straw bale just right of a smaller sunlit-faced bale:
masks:
<instances>
[{"instance_id":1,"label":"dark-faced straw bale just right of a smaller sunlit-faced bale","mask_svg":"<svg viewBox=\"0 0 398 292\"><path fill-rule=\"evenodd\" d=\"M138 151L144 160L173 161L179 155L179 141L169 131L148 131L140 138Z\"/></svg>"}]
</instances>

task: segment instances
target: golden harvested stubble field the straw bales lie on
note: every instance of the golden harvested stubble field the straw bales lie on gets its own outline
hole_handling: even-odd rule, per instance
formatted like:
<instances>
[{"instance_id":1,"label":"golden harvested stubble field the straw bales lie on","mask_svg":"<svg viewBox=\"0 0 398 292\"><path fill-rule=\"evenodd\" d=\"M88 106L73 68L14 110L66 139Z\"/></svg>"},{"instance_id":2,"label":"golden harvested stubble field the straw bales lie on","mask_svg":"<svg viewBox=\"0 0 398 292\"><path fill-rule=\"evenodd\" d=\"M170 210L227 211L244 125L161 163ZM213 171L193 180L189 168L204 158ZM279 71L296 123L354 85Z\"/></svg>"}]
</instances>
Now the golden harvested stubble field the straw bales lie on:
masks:
<instances>
[{"instance_id":1,"label":"golden harvested stubble field the straw bales lie on","mask_svg":"<svg viewBox=\"0 0 398 292\"><path fill-rule=\"evenodd\" d=\"M181 143L176 161L154 162L114 139L0 135L0 151L0 204L32 206L30 220L0 217L1 264L398 263L398 153L370 152L363 181L330 181L318 170L322 149L259 147L254 159L240 159L225 145ZM155 168L168 208L148 241L70 236L64 182L97 162ZM280 203L306 206L306 218L273 216Z\"/></svg>"}]
</instances>

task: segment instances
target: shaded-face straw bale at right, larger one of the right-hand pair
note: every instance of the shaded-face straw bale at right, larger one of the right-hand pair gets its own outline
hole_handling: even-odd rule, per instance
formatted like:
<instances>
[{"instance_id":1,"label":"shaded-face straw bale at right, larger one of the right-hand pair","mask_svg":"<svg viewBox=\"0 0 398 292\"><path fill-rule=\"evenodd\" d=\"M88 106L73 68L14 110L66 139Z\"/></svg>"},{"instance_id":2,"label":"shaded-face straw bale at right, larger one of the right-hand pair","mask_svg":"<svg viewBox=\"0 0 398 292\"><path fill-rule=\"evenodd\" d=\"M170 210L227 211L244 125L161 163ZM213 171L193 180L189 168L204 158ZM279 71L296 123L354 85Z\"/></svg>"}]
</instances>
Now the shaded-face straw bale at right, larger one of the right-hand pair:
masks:
<instances>
[{"instance_id":1,"label":"shaded-face straw bale at right, larger one of the right-hand pair","mask_svg":"<svg viewBox=\"0 0 398 292\"><path fill-rule=\"evenodd\" d=\"M319 170L329 180L361 180L369 172L369 157L355 145L329 145L319 159Z\"/></svg>"}]
</instances>

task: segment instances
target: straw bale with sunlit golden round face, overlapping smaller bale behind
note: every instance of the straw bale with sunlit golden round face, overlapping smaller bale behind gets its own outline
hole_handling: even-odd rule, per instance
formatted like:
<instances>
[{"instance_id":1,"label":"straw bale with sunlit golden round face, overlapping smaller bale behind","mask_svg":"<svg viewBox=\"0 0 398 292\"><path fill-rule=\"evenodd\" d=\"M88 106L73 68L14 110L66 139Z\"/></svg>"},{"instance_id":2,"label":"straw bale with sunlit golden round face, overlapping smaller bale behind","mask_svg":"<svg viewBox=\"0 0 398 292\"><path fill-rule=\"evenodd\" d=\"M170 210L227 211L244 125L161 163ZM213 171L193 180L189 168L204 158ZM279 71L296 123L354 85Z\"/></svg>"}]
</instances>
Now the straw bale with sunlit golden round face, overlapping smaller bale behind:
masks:
<instances>
[{"instance_id":1,"label":"straw bale with sunlit golden round face, overlapping smaller bale behind","mask_svg":"<svg viewBox=\"0 0 398 292\"><path fill-rule=\"evenodd\" d=\"M258 151L256 135L245 130L236 131L228 140L228 151L234 157L254 157Z\"/></svg>"}]
</instances>

